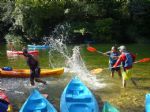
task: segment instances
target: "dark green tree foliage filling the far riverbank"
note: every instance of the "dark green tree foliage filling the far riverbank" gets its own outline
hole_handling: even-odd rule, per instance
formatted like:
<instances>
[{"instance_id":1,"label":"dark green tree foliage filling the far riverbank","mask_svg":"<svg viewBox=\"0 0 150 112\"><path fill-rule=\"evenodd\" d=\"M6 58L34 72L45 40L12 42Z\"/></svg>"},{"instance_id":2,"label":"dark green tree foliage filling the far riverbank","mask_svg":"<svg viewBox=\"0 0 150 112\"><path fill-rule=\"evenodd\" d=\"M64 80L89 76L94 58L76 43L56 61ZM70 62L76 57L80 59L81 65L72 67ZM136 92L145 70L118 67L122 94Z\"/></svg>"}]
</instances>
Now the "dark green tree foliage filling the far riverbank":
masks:
<instances>
[{"instance_id":1,"label":"dark green tree foliage filling the far riverbank","mask_svg":"<svg viewBox=\"0 0 150 112\"><path fill-rule=\"evenodd\" d=\"M68 22L69 38L79 34L74 41L91 32L97 42L135 42L149 39L149 13L149 0L1 0L0 36L11 33L39 42Z\"/></svg>"}]
</instances>

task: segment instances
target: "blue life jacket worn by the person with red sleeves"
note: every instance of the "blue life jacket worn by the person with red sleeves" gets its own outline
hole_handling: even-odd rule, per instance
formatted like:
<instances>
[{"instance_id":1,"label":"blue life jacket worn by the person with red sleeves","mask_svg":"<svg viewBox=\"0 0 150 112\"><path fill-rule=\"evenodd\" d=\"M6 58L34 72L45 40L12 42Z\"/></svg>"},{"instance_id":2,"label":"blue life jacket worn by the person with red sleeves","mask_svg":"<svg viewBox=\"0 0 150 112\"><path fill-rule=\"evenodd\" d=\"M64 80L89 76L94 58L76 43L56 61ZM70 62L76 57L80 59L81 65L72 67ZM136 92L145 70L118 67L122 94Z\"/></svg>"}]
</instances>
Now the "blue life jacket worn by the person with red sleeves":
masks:
<instances>
[{"instance_id":1,"label":"blue life jacket worn by the person with red sleeves","mask_svg":"<svg viewBox=\"0 0 150 112\"><path fill-rule=\"evenodd\" d=\"M123 62L123 67L132 67L133 59L129 52L125 52L124 55L126 56L126 60Z\"/></svg>"}]
</instances>

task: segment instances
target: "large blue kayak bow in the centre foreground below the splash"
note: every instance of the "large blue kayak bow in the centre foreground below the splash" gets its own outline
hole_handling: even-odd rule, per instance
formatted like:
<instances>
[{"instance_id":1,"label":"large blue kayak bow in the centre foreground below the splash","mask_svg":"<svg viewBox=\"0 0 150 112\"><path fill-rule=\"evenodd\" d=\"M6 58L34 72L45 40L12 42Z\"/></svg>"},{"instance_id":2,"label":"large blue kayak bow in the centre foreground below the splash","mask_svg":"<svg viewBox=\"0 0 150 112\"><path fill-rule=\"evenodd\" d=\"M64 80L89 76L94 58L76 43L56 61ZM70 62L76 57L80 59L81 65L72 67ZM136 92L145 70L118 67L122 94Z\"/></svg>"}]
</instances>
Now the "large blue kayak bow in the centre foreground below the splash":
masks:
<instances>
[{"instance_id":1,"label":"large blue kayak bow in the centre foreground below the splash","mask_svg":"<svg viewBox=\"0 0 150 112\"><path fill-rule=\"evenodd\" d=\"M60 112L100 112L91 91L77 78L64 89L60 100Z\"/></svg>"}]
</instances>

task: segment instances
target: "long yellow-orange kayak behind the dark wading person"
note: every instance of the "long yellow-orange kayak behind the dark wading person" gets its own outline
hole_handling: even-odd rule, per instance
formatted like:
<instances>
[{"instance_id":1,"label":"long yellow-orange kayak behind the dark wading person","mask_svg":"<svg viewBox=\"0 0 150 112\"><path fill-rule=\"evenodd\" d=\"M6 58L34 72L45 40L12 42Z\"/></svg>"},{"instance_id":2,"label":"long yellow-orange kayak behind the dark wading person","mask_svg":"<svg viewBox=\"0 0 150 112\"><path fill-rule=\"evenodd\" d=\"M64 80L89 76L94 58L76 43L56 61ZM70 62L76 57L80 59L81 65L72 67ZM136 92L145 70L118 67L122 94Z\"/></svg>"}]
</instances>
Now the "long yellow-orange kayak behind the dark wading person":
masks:
<instances>
[{"instance_id":1,"label":"long yellow-orange kayak behind the dark wading person","mask_svg":"<svg viewBox=\"0 0 150 112\"><path fill-rule=\"evenodd\" d=\"M41 69L40 77L57 76L63 73L64 73L64 68ZM5 71L5 70L0 69L0 77L28 78L30 77L30 70L29 69L13 69L12 71Z\"/></svg>"}]
</instances>

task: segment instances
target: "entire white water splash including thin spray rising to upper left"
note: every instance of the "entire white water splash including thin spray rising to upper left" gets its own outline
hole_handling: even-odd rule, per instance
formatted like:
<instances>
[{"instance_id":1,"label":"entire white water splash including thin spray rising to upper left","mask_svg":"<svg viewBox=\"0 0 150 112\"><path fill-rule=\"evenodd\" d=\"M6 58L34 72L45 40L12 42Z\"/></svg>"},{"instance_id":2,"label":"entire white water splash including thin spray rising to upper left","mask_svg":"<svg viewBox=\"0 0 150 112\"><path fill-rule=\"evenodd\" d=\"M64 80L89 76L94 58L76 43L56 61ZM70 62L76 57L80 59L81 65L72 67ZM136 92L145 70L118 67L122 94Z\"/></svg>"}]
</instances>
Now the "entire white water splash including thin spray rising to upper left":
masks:
<instances>
[{"instance_id":1,"label":"entire white water splash including thin spray rising to upper left","mask_svg":"<svg viewBox=\"0 0 150 112\"><path fill-rule=\"evenodd\" d=\"M91 73L87 70L87 67L80 55L79 46L73 47L72 55L69 53L68 48L65 44L65 41L68 37L68 33L66 33L68 30L66 30L66 27L68 29L68 27L70 26L68 24L58 25L52 35L45 38L45 40L49 42L49 46L51 46L51 49L49 51L49 62L51 66L53 66L53 64L51 63L51 59L53 57L52 52L57 51L61 54L61 56L64 57L65 72L72 72L74 75L77 75L81 80L88 83L88 85L93 89L104 87L105 84L100 83L100 80L98 80L96 76L91 75Z\"/></svg>"}]
</instances>

